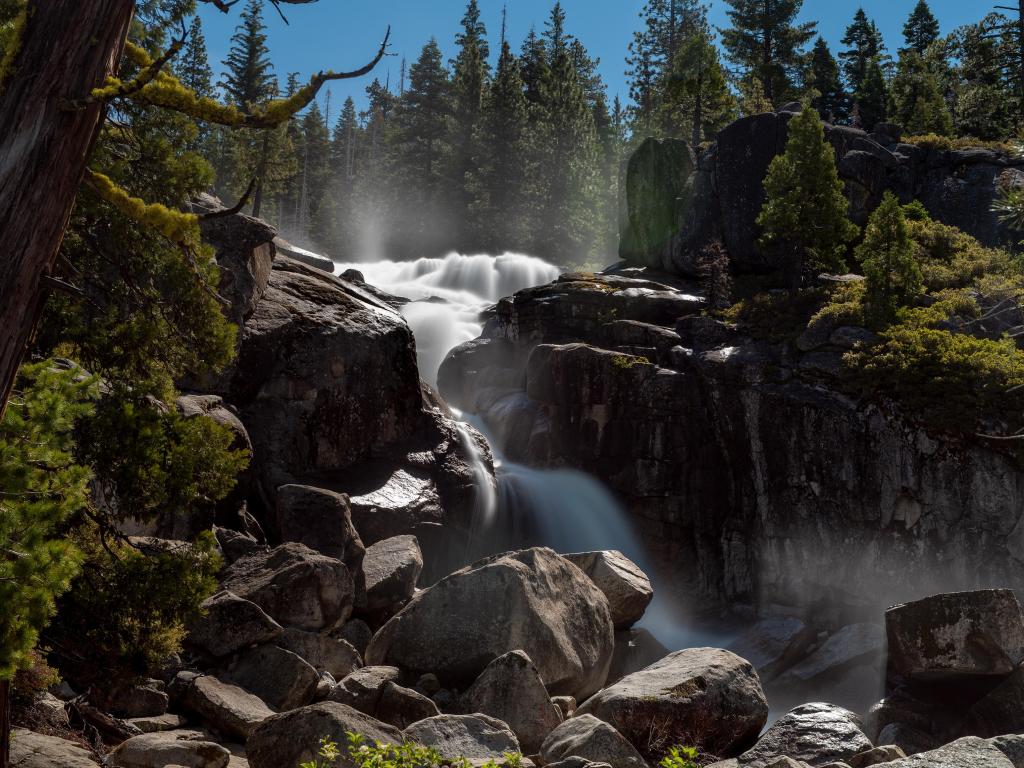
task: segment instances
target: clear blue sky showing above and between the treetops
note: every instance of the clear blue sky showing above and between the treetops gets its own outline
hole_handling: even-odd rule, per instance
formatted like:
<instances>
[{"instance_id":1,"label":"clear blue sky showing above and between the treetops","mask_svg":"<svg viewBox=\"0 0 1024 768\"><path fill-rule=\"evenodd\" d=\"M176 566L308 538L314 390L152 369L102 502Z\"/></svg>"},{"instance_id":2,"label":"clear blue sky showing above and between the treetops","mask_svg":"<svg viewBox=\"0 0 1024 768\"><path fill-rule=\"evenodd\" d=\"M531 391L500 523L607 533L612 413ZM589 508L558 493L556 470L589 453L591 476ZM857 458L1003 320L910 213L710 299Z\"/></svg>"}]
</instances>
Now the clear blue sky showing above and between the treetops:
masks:
<instances>
[{"instance_id":1,"label":"clear blue sky showing above and between the treetops","mask_svg":"<svg viewBox=\"0 0 1024 768\"><path fill-rule=\"evenodd\" d=\"M554 0L508 0L509 38L513 45L518 47L531 26L543 29L553 3ZM502 6L506 3L504 0L479 0L479 4L489 36L495 41L492 48L497 48ZM915 4L916 0L806 0L801 16L803 20L818 22L819 32L835 51L846 26L857 7L862 5L879 24L890 49L894 49L902 44L903 23ZM995 4L996 0L931 2L943 34L979 20ZM568 15L569 32L583 41L592 55L601 59L600 72L608 85L609 100L618 94L626 101L627 46L640 24L638 13L643 7L643 0L562 0L562 5ZM446 57L453 55L454 38L465 9L465 0L321 0L311 5L284 7L290 26L286 26L272 8L266 10L271 57L282 81L289 72L299 72L308 77L321 69L350 70L361 67L376 50L388 25L391 25L391 51L396 55L381 62L375 74L383 80L390 71L391 82L395 84L401 56L414 60L429 38L437 38ZM723 0L711 2L711 18L715 25L726 25L726 7ZM220 62L238 24L238 11L225 15L210 5L204 5L201 15L206 27L210 62L219 76L222 69ZM338 108L346 96L351 95L357 103L361 103L364 89L372 78L331 84L332 114L338 114Z\"/></svg>"}]
</instances>

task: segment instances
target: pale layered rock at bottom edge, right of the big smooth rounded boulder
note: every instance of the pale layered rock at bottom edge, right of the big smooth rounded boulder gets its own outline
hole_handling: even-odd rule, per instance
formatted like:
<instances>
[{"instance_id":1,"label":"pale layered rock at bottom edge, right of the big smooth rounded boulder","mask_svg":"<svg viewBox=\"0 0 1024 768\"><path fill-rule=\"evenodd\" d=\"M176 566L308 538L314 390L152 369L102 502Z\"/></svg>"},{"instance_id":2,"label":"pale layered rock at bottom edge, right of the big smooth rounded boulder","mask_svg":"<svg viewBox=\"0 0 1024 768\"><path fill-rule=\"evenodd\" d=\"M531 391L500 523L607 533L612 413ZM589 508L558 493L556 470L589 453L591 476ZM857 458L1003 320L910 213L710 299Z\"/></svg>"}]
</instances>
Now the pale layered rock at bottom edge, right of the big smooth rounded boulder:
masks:
<instances>
[{"instance_id":1,"label":"pale layered rock at bottom edge, right of the big smooth rounded boulder","mask_svg":"<svg viewBox=\"0 0 1024 768\"><path fill-rule=\"evenodd\" d=\"M860 729L852 712L827 703L807 703L779 718L750 750L739 764L765 768L778 757L802 760L811 766L849 762L870 750L871 741Z\"/></svg>"}]
</instances>

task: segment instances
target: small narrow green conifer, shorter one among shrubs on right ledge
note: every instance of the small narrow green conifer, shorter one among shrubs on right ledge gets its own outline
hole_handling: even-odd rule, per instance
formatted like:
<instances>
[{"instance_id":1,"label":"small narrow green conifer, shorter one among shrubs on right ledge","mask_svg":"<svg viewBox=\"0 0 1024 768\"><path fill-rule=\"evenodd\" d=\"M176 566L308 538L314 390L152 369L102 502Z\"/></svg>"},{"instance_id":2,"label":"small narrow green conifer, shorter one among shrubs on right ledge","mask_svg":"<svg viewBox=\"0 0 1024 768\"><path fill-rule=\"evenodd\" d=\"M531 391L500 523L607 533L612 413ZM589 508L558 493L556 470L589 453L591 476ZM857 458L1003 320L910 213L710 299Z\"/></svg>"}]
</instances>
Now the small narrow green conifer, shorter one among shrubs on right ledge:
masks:
<instances>
[{"instance_id":1,"label":"small narrow green conifer, shorter one among shrubs on right ledge","mask_svg":"<svg viewBox=\"0 0 1024 768\"><path fill-rule=\"evenodd\" d=\"M867 306L876 323L891 321L897 308L924 290L906 215L891 191L886 191L868 219L856 256L866 278Z\"/></svg>"}]
</instances>

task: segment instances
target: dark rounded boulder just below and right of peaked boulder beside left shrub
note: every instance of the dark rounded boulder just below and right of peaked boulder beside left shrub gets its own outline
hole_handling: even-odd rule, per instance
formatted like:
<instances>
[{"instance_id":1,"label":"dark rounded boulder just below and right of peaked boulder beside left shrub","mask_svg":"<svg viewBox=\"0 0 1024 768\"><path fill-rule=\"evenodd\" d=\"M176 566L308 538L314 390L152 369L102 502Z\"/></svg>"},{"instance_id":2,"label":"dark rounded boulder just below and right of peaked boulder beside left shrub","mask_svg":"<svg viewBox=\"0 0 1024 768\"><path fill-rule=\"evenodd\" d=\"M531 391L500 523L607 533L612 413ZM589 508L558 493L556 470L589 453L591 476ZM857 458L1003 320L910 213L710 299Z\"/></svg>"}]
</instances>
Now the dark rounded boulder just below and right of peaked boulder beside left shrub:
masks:
<instances>
[{"instance_id":1,"label":"dark rounded boulder just below and right of peaked boulder beside left shrub","mask_svg":"<svg viewBox=\"0 0 1024 768\"><path fill-rule=\"evenodd\" d=\"M276 645L260 645L245 651L223 676L278 711L312 703L319 683L319 673L312 665Z\"/></svg>"}]
</instances>

